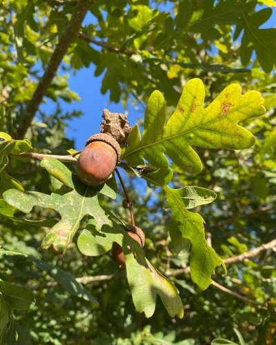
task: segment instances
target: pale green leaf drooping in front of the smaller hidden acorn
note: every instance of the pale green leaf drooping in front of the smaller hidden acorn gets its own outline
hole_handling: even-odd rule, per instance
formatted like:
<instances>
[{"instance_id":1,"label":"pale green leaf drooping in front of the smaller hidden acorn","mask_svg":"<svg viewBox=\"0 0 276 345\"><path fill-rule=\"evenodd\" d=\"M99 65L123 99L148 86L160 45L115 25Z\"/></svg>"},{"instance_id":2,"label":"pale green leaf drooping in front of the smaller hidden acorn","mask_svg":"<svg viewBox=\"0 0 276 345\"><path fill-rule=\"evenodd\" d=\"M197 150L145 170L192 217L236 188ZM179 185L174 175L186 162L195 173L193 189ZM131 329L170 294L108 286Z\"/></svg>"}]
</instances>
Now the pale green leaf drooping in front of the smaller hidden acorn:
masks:
<instances>
[{"instance_id":1,"label":"pale green leaf drooping in front of the smaller hidden acorn","mask_svg":"<svg viewBox=\"0 0 276 345\"><path fill-rule=\"evenodd\" d=\"M84 255L94 256L108 251L113 242L123 248L128 284L139 313L144 312L146 317L151 317L155 312L156 296L159 295L171 317L183 317L183 305L177 288L148 262L142 248L122 226L113 221L112 228L104 225L101 230L90 230L90 235L88 230L83 230L79 236L79 250Z\"/></svg>"}]
</instances>

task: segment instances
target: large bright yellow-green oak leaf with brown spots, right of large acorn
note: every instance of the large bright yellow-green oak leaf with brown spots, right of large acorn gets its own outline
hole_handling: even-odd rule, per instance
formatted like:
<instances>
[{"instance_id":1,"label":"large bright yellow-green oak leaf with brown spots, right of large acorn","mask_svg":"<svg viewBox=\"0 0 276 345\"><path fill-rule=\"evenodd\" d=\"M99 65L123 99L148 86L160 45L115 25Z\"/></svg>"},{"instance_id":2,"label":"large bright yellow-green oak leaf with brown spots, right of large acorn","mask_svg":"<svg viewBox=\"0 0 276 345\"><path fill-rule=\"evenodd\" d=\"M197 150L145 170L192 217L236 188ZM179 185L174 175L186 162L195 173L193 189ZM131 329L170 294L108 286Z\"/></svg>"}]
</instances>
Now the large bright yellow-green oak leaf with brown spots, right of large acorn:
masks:
<instances>
[{"instance_id":1,"label":"large bright yellow-green oak leaf with brown spots, right of large acorn","mask_svg":"<svg viewBox=\"0 0 276 345\"><path fill-rule=\"evenodd\" d=\"M207 108L204 84L200 79L186 83L175 112L166 122L164 97L154 91L146 107L144 131L132 127L121 159L130 166L144 165L144 159L157 168L167 168L167 155L189 172L202 170L201 160L191 146L242 149L252 146L253 135L238 126L239 121L262 115L264 99L257 91L241 94L237 84L227 86Z\"/></svg>"}]
</instances>

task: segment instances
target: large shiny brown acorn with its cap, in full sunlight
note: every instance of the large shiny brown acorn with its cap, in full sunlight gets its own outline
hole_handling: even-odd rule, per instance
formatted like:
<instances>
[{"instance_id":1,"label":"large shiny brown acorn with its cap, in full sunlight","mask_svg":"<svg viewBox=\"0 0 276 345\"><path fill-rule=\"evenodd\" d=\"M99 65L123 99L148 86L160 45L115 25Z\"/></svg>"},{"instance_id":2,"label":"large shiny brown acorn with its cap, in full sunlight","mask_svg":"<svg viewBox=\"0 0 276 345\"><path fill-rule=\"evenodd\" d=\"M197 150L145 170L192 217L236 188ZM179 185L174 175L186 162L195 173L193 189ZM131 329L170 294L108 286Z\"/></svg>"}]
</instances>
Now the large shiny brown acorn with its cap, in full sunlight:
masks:
<instances>
[{"instance_id":1,"label":"large shiny brown acorn with its cap, in full sunlight","mask_svg":"<svg viewBox=\"0 0 276 345\"><path fill-rule=\"evenodd\" d=\"M118 142L106 133L92 135L77 161L77 176L87 186L98 186L114 171L120 158Z\"/></svg>"}]
</instances>

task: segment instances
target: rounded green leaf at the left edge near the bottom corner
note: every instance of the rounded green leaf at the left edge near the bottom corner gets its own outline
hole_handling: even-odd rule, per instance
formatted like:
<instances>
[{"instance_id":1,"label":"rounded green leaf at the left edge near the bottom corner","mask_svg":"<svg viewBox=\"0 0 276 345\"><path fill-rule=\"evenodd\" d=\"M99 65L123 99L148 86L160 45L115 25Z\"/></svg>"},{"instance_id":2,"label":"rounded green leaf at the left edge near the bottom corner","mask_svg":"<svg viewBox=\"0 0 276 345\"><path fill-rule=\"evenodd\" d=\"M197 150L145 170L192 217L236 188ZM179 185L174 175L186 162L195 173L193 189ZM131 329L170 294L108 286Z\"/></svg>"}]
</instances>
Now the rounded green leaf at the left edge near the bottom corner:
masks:
<instances>
[{"instance_id":1,"label":"rounded green leaf at the left edge near the bottom corner","mask_svg":"<svg viewBox=\"0 0 276 345\"><path fill-rule=\"evenodd\" d=\"M23 286L14 285L0 280L0 291L3 293L3 296L5 297L11 309L28 311L28 308L35 304L32 291L30 291L28 288L24 288Z\"/></svg>"}]
</instances>

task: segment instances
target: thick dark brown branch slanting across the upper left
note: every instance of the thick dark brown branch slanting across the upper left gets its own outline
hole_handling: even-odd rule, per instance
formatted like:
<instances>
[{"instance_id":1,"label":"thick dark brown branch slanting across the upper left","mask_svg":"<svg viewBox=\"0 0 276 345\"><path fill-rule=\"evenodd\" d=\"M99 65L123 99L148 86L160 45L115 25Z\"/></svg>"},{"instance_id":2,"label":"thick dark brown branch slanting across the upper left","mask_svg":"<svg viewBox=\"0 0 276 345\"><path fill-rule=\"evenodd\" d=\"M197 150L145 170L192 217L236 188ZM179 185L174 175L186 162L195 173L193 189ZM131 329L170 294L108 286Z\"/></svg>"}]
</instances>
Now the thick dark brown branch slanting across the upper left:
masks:
<instances>
[{"instance_id":1,"label":"thick dark brown branch slanting across the upper left","mask_svg":"<svg viewBox=\"0 0 276 345\"><path fill-rule=\"evenodd\" d=\"M55 77L64 55L66 55L70 44L79 37L79 28L92 2L93 0L79 0L77 2L75 12L72 14L72 18L70 19L66 30L61 35L59 43L57 43L55 51L50 58L48 67L46 68L43 77L39 81L37 89L34 91L34 95L28 103L26 111L20 119L16 139L23 139L23 137L25 137L26 131L30 127L32 119L39 108L39 104L46 95L50 83Z\"/></svg>"}]
</instances>

